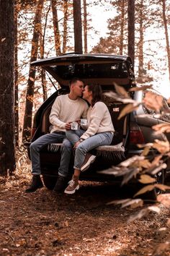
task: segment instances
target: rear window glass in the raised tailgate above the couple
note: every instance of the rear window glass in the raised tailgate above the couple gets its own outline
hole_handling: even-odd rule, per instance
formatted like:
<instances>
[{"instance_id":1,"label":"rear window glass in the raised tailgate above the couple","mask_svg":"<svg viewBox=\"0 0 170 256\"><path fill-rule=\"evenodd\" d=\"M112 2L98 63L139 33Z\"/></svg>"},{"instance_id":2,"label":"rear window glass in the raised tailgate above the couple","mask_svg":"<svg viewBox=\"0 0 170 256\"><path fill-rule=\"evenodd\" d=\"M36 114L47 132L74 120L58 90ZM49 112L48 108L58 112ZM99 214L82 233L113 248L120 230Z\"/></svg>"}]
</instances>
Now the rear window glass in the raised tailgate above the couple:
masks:
<instances>
[{"instance_id":1,"label":"rear window glass in the raised tailgate above the couple","mask_svg":"<svg viewBox=\"0 0 170 256\"><path fill-rule=\"evenodd\" d=\"M55 74L63 80L71 77L83 78L127 78L128 69L125 62L102 64L68 64L62 66L50 66Z\"/></svg>"}]
</instances>

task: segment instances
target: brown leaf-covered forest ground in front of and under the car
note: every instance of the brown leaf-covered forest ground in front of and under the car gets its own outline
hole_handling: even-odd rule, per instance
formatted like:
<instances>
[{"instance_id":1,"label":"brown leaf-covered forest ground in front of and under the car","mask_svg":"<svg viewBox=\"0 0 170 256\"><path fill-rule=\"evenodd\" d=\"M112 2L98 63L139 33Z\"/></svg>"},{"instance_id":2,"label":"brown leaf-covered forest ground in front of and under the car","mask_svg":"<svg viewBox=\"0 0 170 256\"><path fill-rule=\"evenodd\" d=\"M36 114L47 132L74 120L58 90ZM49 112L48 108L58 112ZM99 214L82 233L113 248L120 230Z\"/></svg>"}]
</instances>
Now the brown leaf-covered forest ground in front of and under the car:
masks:
<instances>
[{"instance_id":1,"label":"brown leaf-covered forest ground in front of and under the car","mask_svg":"<svg viewBox=\"0 0 170 256\"><path fill-rule=\"evenodd\" d=\"M30 166L18 170L0 180L0 255L170 255L163 205L160 214L128 223L141 208L106 203L131 196L130 187L81 182L76 195L53 195L45 187L27 194Z\"/></svg>"}]
</instances>

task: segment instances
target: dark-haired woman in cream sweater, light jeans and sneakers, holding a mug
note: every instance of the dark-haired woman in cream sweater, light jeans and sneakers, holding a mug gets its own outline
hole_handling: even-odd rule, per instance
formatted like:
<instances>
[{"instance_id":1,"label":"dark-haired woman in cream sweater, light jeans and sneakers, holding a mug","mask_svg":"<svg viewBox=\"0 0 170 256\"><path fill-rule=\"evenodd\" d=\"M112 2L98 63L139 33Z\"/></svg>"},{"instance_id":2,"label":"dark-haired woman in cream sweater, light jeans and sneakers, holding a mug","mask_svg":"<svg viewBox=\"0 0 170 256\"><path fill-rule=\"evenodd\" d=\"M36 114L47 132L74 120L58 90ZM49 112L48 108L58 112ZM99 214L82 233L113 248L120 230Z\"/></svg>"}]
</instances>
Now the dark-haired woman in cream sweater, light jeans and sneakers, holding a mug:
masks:
<instances>
[{"instance_id":1,"label":"dark-haired woman in cream sweater, light jeans and sneakers, holding a mug","mask_svg":"<svg viewBox=\"0 0 170 256\"><path fill-rule=\"evenodd\" d=\"M87 126L82 126L82 130L67 131L66 137L72 142L75 149L74 174L66 194L73 194L79 189L79 175L89 167L89 163L94 161L95 156L87 152L102 145L110 145L115 131L112 119L107 106L102 102L102 88L100 85L86 85L83 92L84 100L90 106L87 112Z\"/></svg>"}]
</instances>

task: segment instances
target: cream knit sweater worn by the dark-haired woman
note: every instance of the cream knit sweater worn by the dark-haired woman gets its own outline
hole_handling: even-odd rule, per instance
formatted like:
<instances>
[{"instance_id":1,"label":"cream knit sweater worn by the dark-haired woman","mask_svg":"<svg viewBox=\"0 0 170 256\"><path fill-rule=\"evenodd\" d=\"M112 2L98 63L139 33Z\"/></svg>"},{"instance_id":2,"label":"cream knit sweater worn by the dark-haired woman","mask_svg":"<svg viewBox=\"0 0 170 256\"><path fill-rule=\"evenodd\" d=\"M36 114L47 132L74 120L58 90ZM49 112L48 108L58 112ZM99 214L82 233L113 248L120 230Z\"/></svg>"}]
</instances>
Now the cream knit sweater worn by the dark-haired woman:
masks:
<instances>
[{"instance_id":1,"label":"cream knit sweater worn by the dark-haired woman","mask_svg":"<svg viewBox=\"0 0 170 256\"><path fill-rule=\"evenodd\" d=\"M84 140L100 132L115 131L109 114L109 109L102 101L98 101L93 107L89 107L87 112L87 123L86 127L82 127L83 129L87 128L86 132L81 136Z\"/></svg>"}]
</instances>

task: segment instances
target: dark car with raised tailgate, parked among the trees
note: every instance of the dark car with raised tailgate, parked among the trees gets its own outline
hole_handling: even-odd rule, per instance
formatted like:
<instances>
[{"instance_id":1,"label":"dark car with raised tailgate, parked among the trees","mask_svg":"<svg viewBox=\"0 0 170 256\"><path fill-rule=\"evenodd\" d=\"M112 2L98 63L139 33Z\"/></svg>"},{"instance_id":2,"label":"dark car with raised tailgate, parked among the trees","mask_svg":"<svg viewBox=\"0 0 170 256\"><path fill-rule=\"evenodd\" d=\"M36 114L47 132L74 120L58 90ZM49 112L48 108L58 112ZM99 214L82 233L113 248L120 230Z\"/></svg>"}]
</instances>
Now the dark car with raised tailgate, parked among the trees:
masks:
<instances>
[{"instance_id":1,"label":"dark car with raised tailgate, parked among the trees","mask_svg":"<svg viewBox=\"0 0 170 256\"><path fill-rule=\"evenodd\" d=\"M103 174L102 170L110 166L116 166L121 161L140 155L142 149L138 144L164 140L164 135L156 135L152 126L159 123L169 123L169 119L155 117L154 111L140 104L139 108L118 119L125 104L119 99L109 97L109 93L115 93L116 85L128 91L136 87L133 62L129 56L112 54L64 54L48 59L40 59L31 63L34 67L42 67L50 76L58 82L55 93L42 103L37 110L32 125L32 137L27 143L28 154L30 155L30 143L38 137L45 135L50 130L50 110L58 95L68 93L68 82L73 77L79 77L88 82L97 82L102 86L103 101L109 108L112 122L115 127L115 136L112 145L95 149L96 161L91 164L87 171L81 174L81 180L88 181L110 181L115 176ZM51 80L52 82L52 80ZM53 83L53 82L52 82ZM56 87L56 86L55 86ZM132 100L142 102L145 90L136 90L129 93ZM167 105L167 103L165 102ZM167 107L169 107L167 105ZM42 179L48 189L53 189L58 176L58 167L61 160L61 144L51 144L40 152L40 163ZM158 153L158 152L157 152ZM151 150L150 155L156 154ZM168 167L169 168L169 165ZM164 182L165 170L159 172L159 181ZM70 174L73 174L73 157L70 163Z\"/></svg>"}]
</instances>

